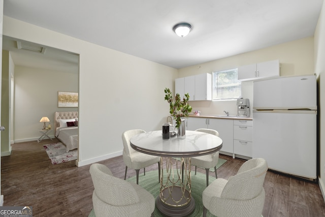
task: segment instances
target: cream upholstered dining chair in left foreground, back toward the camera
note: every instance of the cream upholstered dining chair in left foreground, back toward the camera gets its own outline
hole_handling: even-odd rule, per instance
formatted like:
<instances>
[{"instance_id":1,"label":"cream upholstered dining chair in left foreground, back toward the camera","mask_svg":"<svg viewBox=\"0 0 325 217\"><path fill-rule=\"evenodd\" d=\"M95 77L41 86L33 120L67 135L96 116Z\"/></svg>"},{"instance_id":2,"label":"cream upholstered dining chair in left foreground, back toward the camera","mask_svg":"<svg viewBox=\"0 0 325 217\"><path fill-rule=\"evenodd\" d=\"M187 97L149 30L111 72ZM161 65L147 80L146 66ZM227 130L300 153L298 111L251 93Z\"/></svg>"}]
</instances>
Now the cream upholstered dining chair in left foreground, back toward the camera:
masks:
<instances>
[{"instance_id":1,"label":"cream upholstered dining chair in left foreground, back toward the camera","mask_svg":"<svg viewBox=\"0 0 325 217\"><path fill-rule=\"evenodd\" d=\"M114 177L103 164L92 164L93 210L101 216L153 216L155 199L140 185Z\"/></svg>"}]
</instances>

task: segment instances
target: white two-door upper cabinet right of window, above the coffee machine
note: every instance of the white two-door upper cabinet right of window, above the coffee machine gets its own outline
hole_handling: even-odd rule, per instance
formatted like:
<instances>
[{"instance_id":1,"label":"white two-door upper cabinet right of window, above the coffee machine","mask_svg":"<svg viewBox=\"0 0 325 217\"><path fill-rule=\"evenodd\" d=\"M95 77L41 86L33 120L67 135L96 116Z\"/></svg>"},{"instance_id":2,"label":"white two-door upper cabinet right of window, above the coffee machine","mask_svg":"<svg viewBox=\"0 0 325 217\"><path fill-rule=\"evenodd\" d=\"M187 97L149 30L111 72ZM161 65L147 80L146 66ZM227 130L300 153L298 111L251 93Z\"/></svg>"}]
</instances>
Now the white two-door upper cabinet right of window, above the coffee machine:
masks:
<instances>
[{"instance_id":1,"label":"white two-door upper cabinet right of window, above the coffee machine","mask_svg":"<svg viewBox=\"0 0 325 217\"><path fill-rule=\"evenodd\" d=\"M279 60L238 67L238 80L248 81L280 76Z\"/></svg>"}]
</instances>

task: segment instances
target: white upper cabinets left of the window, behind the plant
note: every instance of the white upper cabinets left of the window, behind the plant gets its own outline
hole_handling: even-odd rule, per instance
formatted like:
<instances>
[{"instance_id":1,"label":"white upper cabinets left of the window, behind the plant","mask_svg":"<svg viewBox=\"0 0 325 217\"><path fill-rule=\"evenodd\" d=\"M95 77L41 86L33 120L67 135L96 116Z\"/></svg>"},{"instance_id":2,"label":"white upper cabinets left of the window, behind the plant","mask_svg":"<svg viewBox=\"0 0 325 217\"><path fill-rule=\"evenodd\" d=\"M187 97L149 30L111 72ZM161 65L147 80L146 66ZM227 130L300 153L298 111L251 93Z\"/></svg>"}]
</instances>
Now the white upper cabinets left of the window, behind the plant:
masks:
<instances>
[{"instance_id":1,"label":"white upper cabinets left of the window, behind the plant","mask_svg":"<svg viewBox=\"0 0 325 217\"><path fill-rule=\"evenodd\" d=\"M189 101L212 100L212 75L209 73L177 78L175 92L180 97L188 93Z\"/></svg>"}]
</instances>

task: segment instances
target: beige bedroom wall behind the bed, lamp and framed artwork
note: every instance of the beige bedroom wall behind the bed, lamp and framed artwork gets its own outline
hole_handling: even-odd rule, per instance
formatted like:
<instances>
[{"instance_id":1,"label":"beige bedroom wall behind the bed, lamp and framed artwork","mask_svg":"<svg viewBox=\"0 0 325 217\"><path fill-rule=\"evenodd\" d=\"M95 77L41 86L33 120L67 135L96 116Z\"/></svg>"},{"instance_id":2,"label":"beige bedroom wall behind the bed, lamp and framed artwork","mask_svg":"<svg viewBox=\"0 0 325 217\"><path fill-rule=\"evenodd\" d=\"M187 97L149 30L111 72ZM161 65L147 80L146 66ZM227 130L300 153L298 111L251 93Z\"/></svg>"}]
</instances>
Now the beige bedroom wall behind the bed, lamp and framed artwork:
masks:
<instances>
[{"instance_id":1,"label":"beige bedroom wall behind the bed, lamp and framed artwork","mask_svg":"<svg viewBox=\"0 0 325 217\"><path fill-rule=\"evenodd\" d=\"M55 111L77 111L78 108L58 108L57 92L78 92L78 72L60 72L15 66L14 141L38 139L47 116L54 126ZM48 123L47 123L48 125ZM49 136L54 136L54 131Z\"/></svg>"}]
</instances>

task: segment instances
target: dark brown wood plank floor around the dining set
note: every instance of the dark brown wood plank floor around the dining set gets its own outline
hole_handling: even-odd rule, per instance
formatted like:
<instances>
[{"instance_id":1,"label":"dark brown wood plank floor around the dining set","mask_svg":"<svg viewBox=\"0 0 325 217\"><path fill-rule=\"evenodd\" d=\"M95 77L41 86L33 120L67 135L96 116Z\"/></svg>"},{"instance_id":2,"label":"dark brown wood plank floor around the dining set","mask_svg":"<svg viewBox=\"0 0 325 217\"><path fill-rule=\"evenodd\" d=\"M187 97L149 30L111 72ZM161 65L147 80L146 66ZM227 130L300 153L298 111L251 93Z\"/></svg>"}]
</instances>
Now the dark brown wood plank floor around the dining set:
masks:
<instances>
[{"instance_id":1,"label":"dark brown wood plank floor around the dining set","mask_svg":"<svg viewBox=\"0 0 325 217\"><path fill-rule=\"evenodd\" d=\"M88 216L93 192L89 166L78 168L74 161L52 165L43 148L43 144L51 142L16 143L12 145L11 156L2 157L4 206L32 206L33 216ZM244 163L244 160L221 154L220 158L227 160L217 170L220 178L235 175ZM107 165L116 177L124 178L125 165L121 156L99 163ZM146 171L155 169L157 164ZM134 175L135 171L129 169L127 177ZM214 173L210 175L214 176ZM264 188L264 217L325 216L325 203L318 183L268 171Z\"/></svg>"}]
</instances>

